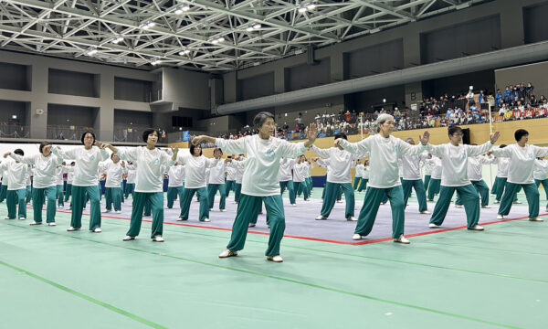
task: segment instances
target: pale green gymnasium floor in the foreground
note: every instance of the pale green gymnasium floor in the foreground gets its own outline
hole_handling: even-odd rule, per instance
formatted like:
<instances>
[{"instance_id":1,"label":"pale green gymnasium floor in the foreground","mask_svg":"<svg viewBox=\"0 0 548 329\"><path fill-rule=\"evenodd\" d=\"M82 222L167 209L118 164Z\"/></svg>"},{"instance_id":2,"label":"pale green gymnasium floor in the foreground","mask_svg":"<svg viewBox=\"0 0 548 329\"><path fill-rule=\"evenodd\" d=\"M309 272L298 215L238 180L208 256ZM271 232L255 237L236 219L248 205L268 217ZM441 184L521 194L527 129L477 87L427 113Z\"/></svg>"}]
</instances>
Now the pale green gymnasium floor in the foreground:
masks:
<instances>
[{"instance_id":1,"label":"pale green gymnasium floor in the foreground","mask_svg":"<svg viewBox=\"0 0 548 329\"><path fill-rule=\"evenodd\" d=\"M548 319L548 222L408 246L287 238L275 264L263 256L267 236L249 235L240 256L220 260L227 231L165 226L169 239L153 243L143 223L140 239L122 242L127 221L103 218L93 234L67 232L69 219L58 213L52 228L0 219L3 327L545 328Z\"/></svg>"}]
</instances>

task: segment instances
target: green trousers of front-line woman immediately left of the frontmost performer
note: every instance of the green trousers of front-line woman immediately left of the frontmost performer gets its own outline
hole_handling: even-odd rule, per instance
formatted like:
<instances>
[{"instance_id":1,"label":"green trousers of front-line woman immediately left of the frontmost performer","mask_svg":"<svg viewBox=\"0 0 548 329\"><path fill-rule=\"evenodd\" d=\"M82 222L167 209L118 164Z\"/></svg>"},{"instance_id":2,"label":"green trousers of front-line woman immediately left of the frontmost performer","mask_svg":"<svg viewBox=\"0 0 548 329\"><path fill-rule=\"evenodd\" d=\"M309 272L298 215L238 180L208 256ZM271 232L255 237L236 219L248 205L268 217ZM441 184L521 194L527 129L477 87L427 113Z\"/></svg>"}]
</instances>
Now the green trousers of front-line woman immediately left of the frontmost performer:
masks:
<instances>
[{"instance_id":1,"label":"green trousers of front-line woman immediately left of the frontmost performer","mask_svg":"<svg viewBox=\"0 0 548 329\"><path fill-rule=\"evenodd\" d=\"M130 223L130 230L126 235L130 237L137 237L141 231L142 223L142 210L146 202L150 202L153 212L153 227L151 228L151 239L155 236L162 236L163 234L163 192L156 193L133 193L132 203L132 221Z\"/></svg>"}]
</instances>

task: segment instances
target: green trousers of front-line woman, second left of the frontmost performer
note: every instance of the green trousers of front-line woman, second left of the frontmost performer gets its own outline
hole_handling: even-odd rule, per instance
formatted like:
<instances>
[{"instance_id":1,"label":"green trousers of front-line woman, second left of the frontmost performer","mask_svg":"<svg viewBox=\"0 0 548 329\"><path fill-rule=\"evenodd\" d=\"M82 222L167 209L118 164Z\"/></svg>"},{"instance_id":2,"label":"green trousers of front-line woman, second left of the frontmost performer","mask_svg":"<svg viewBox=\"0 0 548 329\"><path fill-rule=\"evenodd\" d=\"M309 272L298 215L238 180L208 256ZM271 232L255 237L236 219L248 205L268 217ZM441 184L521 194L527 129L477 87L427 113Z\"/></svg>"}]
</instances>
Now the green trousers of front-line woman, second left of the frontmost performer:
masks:
<instances>
[{"instance_id":1,"label":"green trousers of front-line woman, second left of the frontmost performer","mask_svg":"<svg viewBox=\"0 0 548 329\"><path fill-rule=\"evenodd\" d=\"M70 226L73 228L82 227L82 210L84 199L90 199L90 230L100 228L100 187L99 186L72 186L72 216ZM49 201L47 202L49 206Z\"/></svg>"}]
</instances>

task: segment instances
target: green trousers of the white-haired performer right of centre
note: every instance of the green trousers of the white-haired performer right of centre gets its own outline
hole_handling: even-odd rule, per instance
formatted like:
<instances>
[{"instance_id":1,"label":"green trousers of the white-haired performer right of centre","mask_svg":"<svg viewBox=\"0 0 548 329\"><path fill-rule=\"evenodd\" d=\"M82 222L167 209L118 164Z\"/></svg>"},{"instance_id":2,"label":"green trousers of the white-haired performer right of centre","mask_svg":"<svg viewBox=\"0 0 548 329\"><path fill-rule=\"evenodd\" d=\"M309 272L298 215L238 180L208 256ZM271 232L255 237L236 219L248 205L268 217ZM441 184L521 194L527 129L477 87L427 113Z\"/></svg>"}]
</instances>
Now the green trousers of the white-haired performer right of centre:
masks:
<instances>
[{"instance_id":1,"label":"green trousers of the white-haired performer right of centre","mask_svg":"<svg viewBox=\"0 0 548 329\"><path fill-rule=\"evenodd\" d=\"M355 234L367 236L373 229L374 220L376 219L381 200L387 196L390 200L392 208L392 238L397 239L404 234L406 224L404 190L402 186L394 186L390 188L367 188L364 196L364 206L360 210L358 223L354 230Z\"/></svg>"}]
</instances>

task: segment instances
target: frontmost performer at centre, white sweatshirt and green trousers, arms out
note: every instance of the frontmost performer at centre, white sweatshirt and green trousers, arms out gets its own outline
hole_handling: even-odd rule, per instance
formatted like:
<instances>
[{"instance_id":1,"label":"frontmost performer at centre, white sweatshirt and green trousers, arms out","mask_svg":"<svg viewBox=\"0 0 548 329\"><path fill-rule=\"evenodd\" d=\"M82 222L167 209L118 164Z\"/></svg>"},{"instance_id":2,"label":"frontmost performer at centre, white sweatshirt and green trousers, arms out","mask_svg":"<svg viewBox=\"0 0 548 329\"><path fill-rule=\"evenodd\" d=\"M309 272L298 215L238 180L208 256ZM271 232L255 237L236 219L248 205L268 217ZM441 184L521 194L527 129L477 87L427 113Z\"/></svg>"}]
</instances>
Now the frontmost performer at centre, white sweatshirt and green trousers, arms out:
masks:
<instances>
[{"instance_id":1,"label":"frontmost performer at centre, white sweatshirt and green trousers, arms out","mask_svg":"<svg viewBox=\"0 0 548 329\"><path fill-rule=\"evenodd\" d=\"M242 194L237 207L237 216L232 226L232 236L227 249L219 258L237 256L237 251L244 249L248 235L249 220L256 215L258 204L265 203L269 217L269 247L265 252L267 260L281 262L279 246L285 230L283 200L279 194L279 159L295 158L303 154L316 140L318 129L311 123L307 143L289 143L273 137L276 132L274 115L259 112L253 119L258 134L237 140L224 140L209 136L197 136L193 143L206 141L215 143L226 153L248 154L248 161L242 180Z\"/></svg>"}]
</instances>

